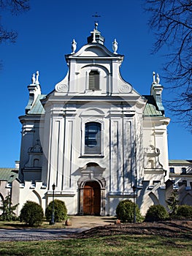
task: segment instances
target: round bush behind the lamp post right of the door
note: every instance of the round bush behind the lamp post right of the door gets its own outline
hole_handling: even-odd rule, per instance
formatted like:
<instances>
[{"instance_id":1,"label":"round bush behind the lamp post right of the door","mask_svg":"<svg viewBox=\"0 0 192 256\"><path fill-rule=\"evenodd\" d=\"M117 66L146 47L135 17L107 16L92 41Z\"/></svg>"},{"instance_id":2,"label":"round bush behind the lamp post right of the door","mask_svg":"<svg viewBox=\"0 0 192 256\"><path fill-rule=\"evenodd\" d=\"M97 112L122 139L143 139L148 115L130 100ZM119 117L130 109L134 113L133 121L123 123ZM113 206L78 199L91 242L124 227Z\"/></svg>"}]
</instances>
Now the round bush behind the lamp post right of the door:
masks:
<instances>
[{"instance_id":1,"label":"round bush behind the lamp post right of the door","mask_svg":"<svg viewBox=\"0 0 192 256\"><path fill-rule=\"evenodd\" d=\"M116 214L118 219L120 219L122 222L134 222L134 205L136 221L141 222L142 216L140 214L139 207L131 200L123 200L118 203L118 206L116 208Z\"/></svg>"}]
</instances>

